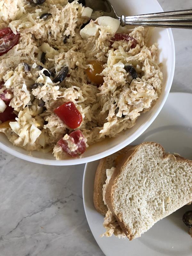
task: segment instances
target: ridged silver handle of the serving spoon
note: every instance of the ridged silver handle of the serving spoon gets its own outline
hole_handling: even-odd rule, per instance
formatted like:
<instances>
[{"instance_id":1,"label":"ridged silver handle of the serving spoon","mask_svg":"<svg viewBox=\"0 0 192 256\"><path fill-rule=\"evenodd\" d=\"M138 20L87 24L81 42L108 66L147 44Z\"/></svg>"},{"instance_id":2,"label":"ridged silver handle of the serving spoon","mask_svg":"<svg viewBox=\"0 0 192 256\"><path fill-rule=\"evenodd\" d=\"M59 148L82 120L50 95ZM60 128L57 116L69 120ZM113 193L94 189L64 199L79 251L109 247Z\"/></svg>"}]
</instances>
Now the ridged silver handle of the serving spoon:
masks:
<instances>
[{"instance_id":1,"label":"ridged silver handle of the serving spoon","mask_svg":"<svg viewBox=\"0 0 192 256\"><path fill-rule=\"evenodd\" d=\"M192 10L118 17L121 25L192 29Z\"/></svg>"}]
</instances>

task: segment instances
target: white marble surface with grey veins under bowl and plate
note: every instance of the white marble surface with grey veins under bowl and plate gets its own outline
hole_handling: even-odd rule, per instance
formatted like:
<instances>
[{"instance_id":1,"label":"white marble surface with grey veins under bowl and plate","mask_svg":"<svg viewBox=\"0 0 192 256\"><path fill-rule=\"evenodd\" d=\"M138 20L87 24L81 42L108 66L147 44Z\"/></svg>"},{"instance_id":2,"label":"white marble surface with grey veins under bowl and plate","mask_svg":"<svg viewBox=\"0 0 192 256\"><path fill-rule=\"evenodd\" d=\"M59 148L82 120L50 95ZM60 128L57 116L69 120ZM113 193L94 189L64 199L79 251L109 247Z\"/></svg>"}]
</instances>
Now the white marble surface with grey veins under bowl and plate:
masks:
<instances>
[{"instance_id":1,"label":"white marble surface with grey veins under bowl and plate","mask_svg":"<svg viewBox=\"0 0 192 256\"><path fill-rule=\"evenodd\" d=\"M191 0L159 0L164 11L192 9ZM192 30L173 29L172 92L192 92ZM0 256L104 255L87 224L84 164L28 163L0 151Z\"/></svg>"}]
</instances>

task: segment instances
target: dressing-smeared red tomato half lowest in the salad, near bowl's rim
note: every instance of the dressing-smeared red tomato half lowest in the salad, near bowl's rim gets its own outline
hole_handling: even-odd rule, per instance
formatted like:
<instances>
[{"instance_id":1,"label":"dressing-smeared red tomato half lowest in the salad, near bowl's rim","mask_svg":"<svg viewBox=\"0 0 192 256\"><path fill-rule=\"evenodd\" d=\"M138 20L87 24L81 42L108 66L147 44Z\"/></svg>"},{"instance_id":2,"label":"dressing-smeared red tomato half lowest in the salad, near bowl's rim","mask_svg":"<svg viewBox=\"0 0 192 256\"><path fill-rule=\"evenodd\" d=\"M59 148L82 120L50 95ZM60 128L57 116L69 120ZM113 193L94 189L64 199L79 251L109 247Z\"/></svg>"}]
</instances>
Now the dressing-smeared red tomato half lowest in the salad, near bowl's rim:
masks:
<instances>
[{"instance_id":1,"label":"dressing-smeared red tomato half lowest in the salad, near bowl's rim","mask_svg":"<svg viewBox=\"0 0 192 256\"><path fill-rule=\"evenodd\" d=\"M71 151L71 149L68 147L67 140L61 139L57 143L68 155L70 155L72 157L80 156L81 154L83 154L86 149L86 144L85 144L85 140L84 140L82 132L80 130L71 132L69 134L69 137L71 140L70 144L71 144L71 142L74 143L76 150Z\"/></svg>"}]
</instances>

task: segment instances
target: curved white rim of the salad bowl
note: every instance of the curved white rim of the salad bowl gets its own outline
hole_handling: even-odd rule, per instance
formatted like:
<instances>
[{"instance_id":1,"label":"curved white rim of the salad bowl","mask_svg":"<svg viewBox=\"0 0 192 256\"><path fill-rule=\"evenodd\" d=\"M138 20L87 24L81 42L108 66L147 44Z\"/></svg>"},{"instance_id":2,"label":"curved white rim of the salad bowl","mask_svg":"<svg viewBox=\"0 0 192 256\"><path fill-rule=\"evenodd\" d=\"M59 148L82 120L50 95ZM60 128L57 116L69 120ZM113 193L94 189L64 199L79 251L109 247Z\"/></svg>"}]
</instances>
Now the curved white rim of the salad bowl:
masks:
<instances>
[{"instance_id":1,"label":"curved white rim of the salad bowl","mask_svg":"<svg viewBox=\"0 0 192 256\"><path fill-rule=\"evenodd\" d=\"M161 5L159 3L158 3L158 5L159 5L159 9L161 9L163 11ZM170 92L170 89L172 86L174 71L175 71L175 44L174 44L174 39L173 39L173 34L172 34L171 28L167 28L167 31L168 31L169 41L171 44L172 65L171 65L171 72L169 73L169 77L166 82L167 86L166 86L166 90L164 93L164 98L162 99L159 107L156 109L156 112L153 113L153 115L151 115L148 118L148 120L144 124L142 124L139 127L139 129L137 129L135 132L133 132L126 140L124 140L124 141L118 143L117 145L113 146L112 148L109 148L101 153L96 154L96 155L86 156L84 158L75 158L75 159L66 159L66 160L43 159L43 158L37 158L35 156L26 155L26 154L18 152L17 150L9 148L8 146L4 145L2 142L0 142L0 149L4 150L5 152L7 152L13 156L16 156L18 158L21 158L23 160L33 162L36 164L65 166L65 165L76 165L76 164L84 164L84 163L92 162L92 161L98 160L100 158L109 156L109 155L117 152L118 150L124 148L125 146L129 145L132 141L136 140L143 132L145 132L145 130L147 130L147 128L153 123L153 121L156 119L157 115L163 108L164 103L167 100L167 97L169 95L169 92Z\"/></svg>"}]
</instances>

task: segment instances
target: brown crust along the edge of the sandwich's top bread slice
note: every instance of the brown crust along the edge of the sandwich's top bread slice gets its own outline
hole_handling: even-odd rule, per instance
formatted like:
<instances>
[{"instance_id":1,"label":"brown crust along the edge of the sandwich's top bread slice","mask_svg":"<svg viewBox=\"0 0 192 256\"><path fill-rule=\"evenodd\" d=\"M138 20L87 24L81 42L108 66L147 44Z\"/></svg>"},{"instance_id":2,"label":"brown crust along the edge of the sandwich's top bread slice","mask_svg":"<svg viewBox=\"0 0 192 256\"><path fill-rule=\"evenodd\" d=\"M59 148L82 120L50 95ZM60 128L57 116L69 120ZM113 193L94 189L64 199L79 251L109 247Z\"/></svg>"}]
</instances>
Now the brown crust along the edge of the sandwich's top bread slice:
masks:
<instances>
[{"instance_id":1,"label":"brown crust along the edge of the sandwich's top bread slice","mask_svg":"<svg viewBox=\"0 0 192 256\"><path fill-rule=\"evenodd\" d=\"M113 175L112 175L112 177L111 177L111 179L109 181L108 187L106 189L105 201L106 201L106 203L108 205L108 209L113 213L113 215L115 216L116 220L119 223L119 226L122 228L122 230L124 231L125 235L129 238L129 240L132 240L134 235L132 234L130 228L125 226L124 222L122 221L121 213L117 213L117 214L114 213L114 211L113 211L113 208L114 208L113 207L113 195L115 193L116 180L118 180L118 177L119 177L120 173L124 170L124 167L127 165L127 163L134 157L134 155L137 152L138 148L142 147L142 145L146 145L146 144L158 146L159 148L161 148L162 152L163 152L162 159L167 158L167 157L173 157L174 160L177 161L177 162L187 162L187 163L190 163L192 165L192 161L191 160L188 160L188 159L186 159L186 158L184 158L182 156L165 153L164 148L160 144L155 143L155 142L144 142L144 143L142 143L142 144L140 144L138 146L135 146L134 148L130 149L128 151L128 153L125 154L125 157L124 157L122 163L117 166L115 172L113 173ZM189 198L188 203L191 200L192 199Z\"/></svg>"}]
</instances>

